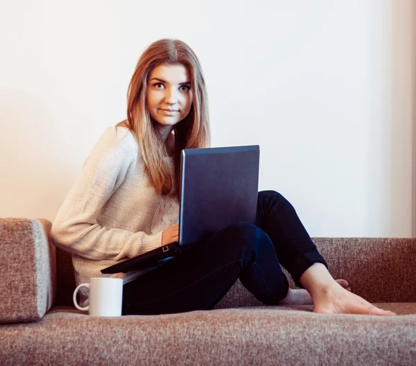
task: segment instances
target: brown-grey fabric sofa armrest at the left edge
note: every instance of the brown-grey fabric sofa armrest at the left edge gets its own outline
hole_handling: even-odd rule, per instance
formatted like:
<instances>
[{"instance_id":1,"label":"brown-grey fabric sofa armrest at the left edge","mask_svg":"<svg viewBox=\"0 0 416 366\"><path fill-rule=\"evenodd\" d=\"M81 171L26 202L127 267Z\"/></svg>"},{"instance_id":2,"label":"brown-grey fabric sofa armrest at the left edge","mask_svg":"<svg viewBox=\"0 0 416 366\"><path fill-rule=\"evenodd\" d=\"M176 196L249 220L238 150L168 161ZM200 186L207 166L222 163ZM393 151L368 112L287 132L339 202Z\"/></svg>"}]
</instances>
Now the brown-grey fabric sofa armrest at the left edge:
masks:
<instances>
[{"instance_id":1,"label":"brown-grey fabric sofa armrest at the left edge","mask_svg":"<svg viewBox=\"0 0 416 366\"><path fill-rule=\"evenodd\" d=\"M51 308L56 258L49 220L0 218L0 322L34 322Z\"/></svg>"}]
</instances>

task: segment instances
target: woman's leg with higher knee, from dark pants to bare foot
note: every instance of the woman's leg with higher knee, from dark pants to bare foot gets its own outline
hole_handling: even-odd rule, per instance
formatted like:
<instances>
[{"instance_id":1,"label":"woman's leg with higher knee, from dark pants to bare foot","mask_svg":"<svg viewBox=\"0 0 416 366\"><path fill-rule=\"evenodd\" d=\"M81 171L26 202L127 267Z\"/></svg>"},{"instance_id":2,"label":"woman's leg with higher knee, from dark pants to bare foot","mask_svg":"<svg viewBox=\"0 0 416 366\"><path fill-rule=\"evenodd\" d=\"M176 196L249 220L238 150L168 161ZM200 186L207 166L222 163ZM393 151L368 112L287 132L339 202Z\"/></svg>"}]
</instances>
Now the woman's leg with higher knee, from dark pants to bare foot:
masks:
<instances>
[{"instance_id":1,"label":"woman's leg with higher knee, from dark pants to bare foot","mask_svg":"<svg viewBox=\"0 0 416 366\"><path fill-rule=\"evenodd\" d=\"M281 194L259 192L257 226L270 236L281 265L295 284L311 295L314 312L395 315L340 286L344 280L333 279L295 209Z\"/></svg>"}]
</instances>

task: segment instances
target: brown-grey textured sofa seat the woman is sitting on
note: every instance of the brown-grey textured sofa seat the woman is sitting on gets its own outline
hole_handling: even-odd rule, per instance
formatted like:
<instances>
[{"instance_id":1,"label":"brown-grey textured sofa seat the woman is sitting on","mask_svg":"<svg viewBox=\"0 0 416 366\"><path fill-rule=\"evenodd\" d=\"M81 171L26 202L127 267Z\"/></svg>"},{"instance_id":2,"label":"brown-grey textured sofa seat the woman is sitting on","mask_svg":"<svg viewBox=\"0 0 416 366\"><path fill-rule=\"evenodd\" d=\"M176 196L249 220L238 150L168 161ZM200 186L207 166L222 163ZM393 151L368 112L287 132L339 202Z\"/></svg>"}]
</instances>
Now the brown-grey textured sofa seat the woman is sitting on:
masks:
<instances>
[{"instance_id":1,"label":"brown-grey textured sofa seat the woman is sitting on","mask_svg":"<svg viewBox=\"0 0 416 366\"><path fill-rule=\"evenodd\" d=\"M385 307L400 313L400 304ZM407 310L413 315L276 306L112 318L57 310L2 326L0 357L2 365L414 365L416 304Z\"/></svg>"}]
</instances>

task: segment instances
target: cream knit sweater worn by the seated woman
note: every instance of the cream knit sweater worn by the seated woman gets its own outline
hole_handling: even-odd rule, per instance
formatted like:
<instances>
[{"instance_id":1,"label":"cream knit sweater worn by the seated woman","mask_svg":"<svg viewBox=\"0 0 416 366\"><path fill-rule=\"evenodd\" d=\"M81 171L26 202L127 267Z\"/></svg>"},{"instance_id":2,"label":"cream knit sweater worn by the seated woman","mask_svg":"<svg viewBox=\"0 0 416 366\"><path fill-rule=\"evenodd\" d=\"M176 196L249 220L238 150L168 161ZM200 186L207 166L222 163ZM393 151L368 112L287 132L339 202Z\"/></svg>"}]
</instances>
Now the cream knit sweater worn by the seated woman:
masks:
<instances>
[{"instance_id":1,"label":"cream knit sweater worn by the seated woman","mask_svg":"<svg viewBox=\"0 0 416 366\"><path fill-rule=\"evenodd\" d=\"M164 157L173 159L173 157ZM145 271L103 275L114 263L162 246L162 232L179 218L177 198L158 195L144 172L128 128L103 132L53 221L51 237L72 254L76 285L92 277L132 281ZM85 288L80 305L88 304Z\"/></svg>"}]
</instances>

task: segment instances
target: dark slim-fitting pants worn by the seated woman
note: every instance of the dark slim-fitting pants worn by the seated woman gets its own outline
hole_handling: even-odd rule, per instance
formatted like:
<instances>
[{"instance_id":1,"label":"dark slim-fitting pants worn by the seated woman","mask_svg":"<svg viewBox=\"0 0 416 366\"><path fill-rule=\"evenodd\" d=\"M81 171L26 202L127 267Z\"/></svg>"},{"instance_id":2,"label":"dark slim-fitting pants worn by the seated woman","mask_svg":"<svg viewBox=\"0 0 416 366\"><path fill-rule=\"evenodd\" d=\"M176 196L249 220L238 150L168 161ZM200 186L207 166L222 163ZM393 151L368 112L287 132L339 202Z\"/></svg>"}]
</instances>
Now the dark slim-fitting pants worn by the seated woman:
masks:
<instances>
[{"instance_id":1,"label":"dark slim-fitting pants worn by the seated woman","mask_svg":"<svg viewBox=\"0 0 416 366\"><path fill-rule=\"evenodd\" d=\"M286 297L288 280L323 263L311 237L286 198L261 191L257 223L237 223L212 234L164 265L123 286L123 315L181 313L213 308L237 278L259 301Z\"/></svg>"}]
</instances>

